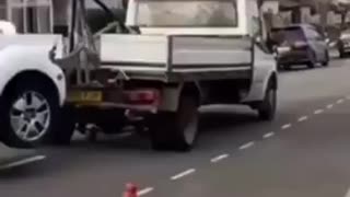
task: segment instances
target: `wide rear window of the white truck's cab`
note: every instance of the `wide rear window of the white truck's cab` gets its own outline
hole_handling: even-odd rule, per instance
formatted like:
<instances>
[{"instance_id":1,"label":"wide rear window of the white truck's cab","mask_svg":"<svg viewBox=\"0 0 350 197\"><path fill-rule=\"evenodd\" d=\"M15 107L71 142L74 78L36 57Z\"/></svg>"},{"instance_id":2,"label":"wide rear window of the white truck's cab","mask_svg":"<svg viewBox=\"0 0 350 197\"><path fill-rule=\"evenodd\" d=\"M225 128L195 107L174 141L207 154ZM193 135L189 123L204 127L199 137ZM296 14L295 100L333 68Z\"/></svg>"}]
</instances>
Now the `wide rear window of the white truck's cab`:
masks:
<instances>
[{"instance_id":1,"label":"wide rear window of the white truck's cab","mask_svg":"<svg viewBox=\"0 0 350 197\"><path fill-rule=\"evenodd\" d=\"M137 24L139 26L237 26L235 0L139 0L137 3Z\"/></svg>"}]
</instances>

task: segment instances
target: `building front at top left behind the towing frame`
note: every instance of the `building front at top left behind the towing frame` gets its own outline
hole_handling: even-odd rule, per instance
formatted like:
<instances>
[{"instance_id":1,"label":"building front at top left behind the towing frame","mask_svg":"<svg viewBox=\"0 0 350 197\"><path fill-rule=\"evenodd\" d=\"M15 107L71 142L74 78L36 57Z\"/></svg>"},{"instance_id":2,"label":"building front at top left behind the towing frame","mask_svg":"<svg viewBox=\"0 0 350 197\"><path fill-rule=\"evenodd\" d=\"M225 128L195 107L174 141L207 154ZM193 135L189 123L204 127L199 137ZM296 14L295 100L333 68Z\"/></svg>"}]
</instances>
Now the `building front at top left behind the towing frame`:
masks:
<instances>
[{"instance_id":1,"label":"building front at top left behind the towing frame","mask_svg":"<svg viewBox=\"0 0 350 197\"><path fill-rule=\"evenodd\" d=\"M11 21L21 33L61 32L69 24L71 0L0 0L0 20ZM112 9L121 0L103 0ZM98 9L86 0L88 9Z\"/></svg>"}]
</instances>

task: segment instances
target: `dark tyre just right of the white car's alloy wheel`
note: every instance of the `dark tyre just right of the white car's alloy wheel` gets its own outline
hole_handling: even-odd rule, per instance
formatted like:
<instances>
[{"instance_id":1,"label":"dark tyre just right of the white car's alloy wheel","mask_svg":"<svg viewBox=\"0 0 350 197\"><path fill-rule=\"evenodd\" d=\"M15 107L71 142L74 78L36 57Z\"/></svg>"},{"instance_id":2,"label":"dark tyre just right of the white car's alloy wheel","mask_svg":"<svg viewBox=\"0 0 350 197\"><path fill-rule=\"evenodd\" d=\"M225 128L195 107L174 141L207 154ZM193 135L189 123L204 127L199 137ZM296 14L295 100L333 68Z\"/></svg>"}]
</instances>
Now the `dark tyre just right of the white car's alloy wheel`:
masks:
<instances>
[{"instance_id":1,"label":"dark tyre just right of the white car's alloy wheel","mask_svg":"<svg viewBox=\"0 0 350 197\"><path fill-rule=\"evenodd\" d=\"M61 108L56 125L51 135L51 142L57 146L70 144L77 125L73 106L66 105Z\"/></svg>"}]
</instances>

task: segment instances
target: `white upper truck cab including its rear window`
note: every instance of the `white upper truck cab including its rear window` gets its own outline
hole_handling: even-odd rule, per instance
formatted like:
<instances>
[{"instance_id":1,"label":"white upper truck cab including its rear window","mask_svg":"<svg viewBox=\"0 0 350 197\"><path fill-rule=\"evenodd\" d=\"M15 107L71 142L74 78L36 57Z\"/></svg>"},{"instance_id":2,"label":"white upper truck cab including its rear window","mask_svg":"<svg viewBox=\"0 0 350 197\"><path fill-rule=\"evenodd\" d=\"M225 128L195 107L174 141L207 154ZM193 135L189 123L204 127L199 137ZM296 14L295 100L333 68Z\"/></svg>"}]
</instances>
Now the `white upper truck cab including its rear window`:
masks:
<instances>
[{"instance_id":1,"label":"white upper truck cab including its rear window","mask_svg":"<svg viewBox=\"0 0 350 197\"><path fill-rule=\"evenodd\" d=\"M185 9L186 8L186 9ZM256 0L130 0L126 25L142 34L252 35Z\"/></svg>"}]
</instances>

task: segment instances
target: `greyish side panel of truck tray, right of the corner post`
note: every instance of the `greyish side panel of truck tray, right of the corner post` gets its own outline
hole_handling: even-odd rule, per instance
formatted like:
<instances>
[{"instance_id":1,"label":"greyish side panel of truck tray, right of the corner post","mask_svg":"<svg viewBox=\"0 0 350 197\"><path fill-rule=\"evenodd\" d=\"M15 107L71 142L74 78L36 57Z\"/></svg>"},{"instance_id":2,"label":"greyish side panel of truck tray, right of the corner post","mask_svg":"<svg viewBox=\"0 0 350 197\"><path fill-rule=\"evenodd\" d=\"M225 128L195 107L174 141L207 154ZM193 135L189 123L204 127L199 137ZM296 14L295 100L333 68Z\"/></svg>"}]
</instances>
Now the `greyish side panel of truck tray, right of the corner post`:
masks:
<instances>
[{"instance_id":1,"label":"greyish side panel of truck tray, right of the corner post","mask_svg":"<svg viewBox=\"0 0 350 197\"><path fill-rule=\"evenodd\" d=\"M252 69L252 40L234 37L172 37L172 71Z\"/></svg>"}]
</instances>

